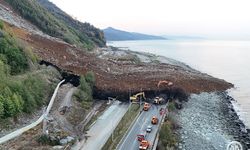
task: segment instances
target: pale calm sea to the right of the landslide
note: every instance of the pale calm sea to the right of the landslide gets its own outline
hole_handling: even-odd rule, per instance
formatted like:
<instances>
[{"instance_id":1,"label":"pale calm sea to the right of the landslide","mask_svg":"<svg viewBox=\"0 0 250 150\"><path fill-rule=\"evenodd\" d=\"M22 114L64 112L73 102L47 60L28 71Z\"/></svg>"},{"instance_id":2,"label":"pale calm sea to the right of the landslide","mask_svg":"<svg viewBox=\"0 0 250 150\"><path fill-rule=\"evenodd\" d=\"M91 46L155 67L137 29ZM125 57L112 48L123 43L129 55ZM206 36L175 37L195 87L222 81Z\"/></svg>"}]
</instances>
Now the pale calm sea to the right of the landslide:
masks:
<instances>
[{"instance_id":1,"label":"pale calm sea to the right of the landslide","mask_svg":"<svg viewBox=\"0 0 250 150\"><path fill-rule=\"evenodd\" d=\"M204 39L112 41L108 45L172 58L234 84L228 93L250 128L250 41Z\"/></svg>"}]
</instances>

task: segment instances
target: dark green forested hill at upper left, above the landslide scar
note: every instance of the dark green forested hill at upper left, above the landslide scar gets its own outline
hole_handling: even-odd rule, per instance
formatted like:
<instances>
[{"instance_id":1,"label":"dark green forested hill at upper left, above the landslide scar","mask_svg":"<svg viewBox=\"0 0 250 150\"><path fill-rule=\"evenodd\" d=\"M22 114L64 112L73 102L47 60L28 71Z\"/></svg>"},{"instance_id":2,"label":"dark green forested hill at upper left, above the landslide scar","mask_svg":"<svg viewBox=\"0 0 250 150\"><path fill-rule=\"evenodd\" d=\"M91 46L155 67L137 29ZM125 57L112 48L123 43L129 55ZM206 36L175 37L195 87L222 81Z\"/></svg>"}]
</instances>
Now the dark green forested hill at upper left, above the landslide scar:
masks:
<instances>
[{"instance_id":1,"label":"dark green forested hill at upper left, above the landslide scar","mask_svg":"<svg viewBox=\"0 0 250 150\"><path fill-rule=\"evenodd\" d=\"M89 23L82 23L48 0L6 0L23 18L50 36L88 50L106 45L104 34Z\"/></svg>"}]
</instances>

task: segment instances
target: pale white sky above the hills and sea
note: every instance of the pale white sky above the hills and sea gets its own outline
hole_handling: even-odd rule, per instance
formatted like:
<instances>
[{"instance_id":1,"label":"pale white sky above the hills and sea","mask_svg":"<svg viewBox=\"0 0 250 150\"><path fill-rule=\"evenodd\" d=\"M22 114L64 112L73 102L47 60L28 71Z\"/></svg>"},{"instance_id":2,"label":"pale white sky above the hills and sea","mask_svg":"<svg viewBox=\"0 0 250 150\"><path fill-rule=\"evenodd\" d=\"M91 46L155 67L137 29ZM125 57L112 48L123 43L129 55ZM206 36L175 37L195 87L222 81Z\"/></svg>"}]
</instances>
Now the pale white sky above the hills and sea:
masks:
<instances>
[{"instance_id":1,"label":"pale white sky above the hills and sea","mask_svg":"<svg viewBox=\"0 0 250 150\"><path fill-rule=\"evenodd\" d=\"M98 28L250 40L250 0L50 0Z\"/></svg>"}]
</instances>

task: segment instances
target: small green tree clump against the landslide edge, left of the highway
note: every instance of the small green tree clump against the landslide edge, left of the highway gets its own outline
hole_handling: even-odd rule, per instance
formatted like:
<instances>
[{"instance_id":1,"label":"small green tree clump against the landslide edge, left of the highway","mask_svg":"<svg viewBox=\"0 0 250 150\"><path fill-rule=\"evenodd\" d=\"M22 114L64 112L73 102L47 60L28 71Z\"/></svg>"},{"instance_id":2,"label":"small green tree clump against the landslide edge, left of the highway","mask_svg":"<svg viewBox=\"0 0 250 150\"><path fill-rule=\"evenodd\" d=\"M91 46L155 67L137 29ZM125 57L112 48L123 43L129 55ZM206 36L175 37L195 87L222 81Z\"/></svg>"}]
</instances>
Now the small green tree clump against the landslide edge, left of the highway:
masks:
<instances>
[{"instance_id":1,"label":"small green tree clump against the landslide edge, left of the highway","mask_svg":"<svg viewBox=\"0 0 250 150\"><path fill-rule=\"evenodd\" d=\"M74 93L74 98L82 103L84 109L89 109L92 105L94 84L95 75L93 72L87 72L85 76L80 77L79 89Z\"/></svg>"}]
</instances>

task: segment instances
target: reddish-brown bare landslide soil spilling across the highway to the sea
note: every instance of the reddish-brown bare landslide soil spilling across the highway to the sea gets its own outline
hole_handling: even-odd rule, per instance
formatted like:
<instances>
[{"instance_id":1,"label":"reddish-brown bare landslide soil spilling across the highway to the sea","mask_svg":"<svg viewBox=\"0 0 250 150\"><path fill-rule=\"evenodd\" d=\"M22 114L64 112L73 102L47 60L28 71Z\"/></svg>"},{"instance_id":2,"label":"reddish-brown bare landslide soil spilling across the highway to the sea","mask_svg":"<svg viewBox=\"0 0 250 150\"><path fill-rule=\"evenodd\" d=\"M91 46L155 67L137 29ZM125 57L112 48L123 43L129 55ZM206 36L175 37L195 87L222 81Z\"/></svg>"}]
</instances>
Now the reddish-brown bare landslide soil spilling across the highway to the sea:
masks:
<instances>
[{"instance_id":1,"label":"reddish-brown bare landslide soil spilling across the highway to the sea","mask_svg":"<svg viewBox=\"0 0 250 150\"><path fill-rule=\"evenodd\" d=\"M100 91L124 93L128 91L158 90L160 80L174 83L186 92L200 93L222 91L232 87L224 80L213 78L195 70L170 64L153 64L101 59L71 45L52 41L38 35L29 35L33 50L41 59L53 63L74 74L93 71L96 75L96 88ZM115 56L114 56L115 57Z\"/></svg>"}]
</instances>

